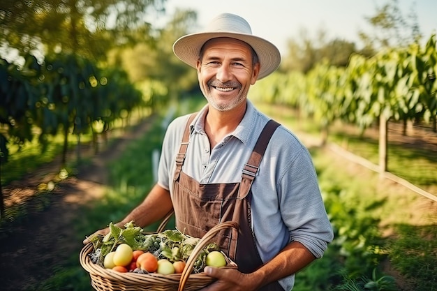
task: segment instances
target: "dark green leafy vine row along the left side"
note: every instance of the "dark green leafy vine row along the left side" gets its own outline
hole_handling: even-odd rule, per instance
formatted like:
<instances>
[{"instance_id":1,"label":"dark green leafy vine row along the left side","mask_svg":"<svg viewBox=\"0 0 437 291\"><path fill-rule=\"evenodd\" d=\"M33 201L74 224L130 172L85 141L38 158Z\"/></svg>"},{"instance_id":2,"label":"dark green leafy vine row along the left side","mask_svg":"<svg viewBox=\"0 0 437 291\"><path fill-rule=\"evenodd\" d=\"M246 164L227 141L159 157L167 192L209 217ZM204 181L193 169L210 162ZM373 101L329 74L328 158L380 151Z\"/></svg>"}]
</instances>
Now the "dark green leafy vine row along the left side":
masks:
<instances>
[{"instance_id":1,"label":"dark green leafy vine row along the left side","mask_svg":"<svg viewBox=\"0 0 437 291\"><path fill-rule=\"evenodd\" d=\"M47 57L39 64L29 55L22 68L0 59L0 156L8 159L8 143L22 145L37 138L64 135L60 167L66 163L68 137L103 133L142 105L142 94L119 68L98 68L75 54ZM103 124L100 131L96 124ZM1 187L0 187L0 197ZM0 201L3 216L3 202Z\"/></svg>"}]
</instances>

